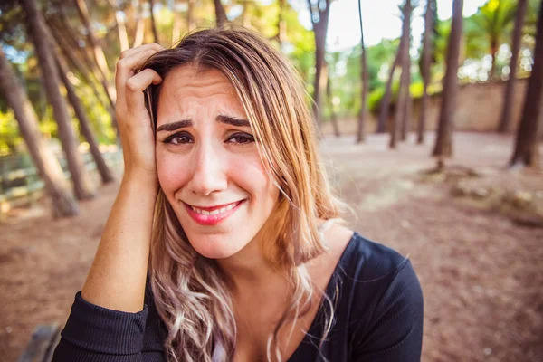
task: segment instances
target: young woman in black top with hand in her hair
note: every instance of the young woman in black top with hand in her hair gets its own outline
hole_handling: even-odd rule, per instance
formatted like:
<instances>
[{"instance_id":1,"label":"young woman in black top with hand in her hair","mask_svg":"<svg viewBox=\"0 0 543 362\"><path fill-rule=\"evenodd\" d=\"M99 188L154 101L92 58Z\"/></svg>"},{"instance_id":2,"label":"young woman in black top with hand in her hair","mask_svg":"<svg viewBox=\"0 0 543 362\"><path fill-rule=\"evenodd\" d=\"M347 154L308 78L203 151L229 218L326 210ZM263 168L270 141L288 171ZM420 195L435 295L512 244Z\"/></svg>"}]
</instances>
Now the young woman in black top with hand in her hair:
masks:
<instances>
[{"instance_id":1,"label":"young woman in black top with hand in her hair","mask_svg":"<svg viewBox=\"0 0 543 362\"><path fill-rule=\"evenodd\" d=\"M411 263L338 223L303 86L244 30L123 52L125 174L54 361L418 361Z\"/></svg>"}]
</instances>

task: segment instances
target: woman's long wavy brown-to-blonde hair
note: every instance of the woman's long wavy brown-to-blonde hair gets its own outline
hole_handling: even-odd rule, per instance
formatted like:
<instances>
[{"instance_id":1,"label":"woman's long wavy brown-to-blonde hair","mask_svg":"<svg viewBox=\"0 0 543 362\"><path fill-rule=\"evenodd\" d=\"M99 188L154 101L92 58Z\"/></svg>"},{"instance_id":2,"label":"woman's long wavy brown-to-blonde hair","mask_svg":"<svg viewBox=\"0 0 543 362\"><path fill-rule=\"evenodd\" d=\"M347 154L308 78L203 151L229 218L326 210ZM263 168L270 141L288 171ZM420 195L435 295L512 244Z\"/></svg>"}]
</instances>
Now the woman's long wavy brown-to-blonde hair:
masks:
<instances>
[{"instance_id":1,"label":"woman's long wavy brown-to-blonde hair","mask_svg":"<svg viewBox=\"0 0 543 362\"><path fill-rule=\"evenodd\" d=\"M286 271L291 302L268 340L268 360L281 361L278 333L310 309L315 292L305 262L326 251L319 223L336 219L341 205L332 195L319 162L316 129L306 93L290 62L259 35L243 29L190 33L173 49L144 65L163 78L183 65L214 68L231 81L250 120L262 163L281 191L280 200L259 232L264 256ZM157 119L160 86L148 90L148 109ZM153 120L154 121L154 120ZM155 127L156 127L156 122ZM155 304L165 321L169 361L224 361L233 357L236 323L231 281L214 260L199 255L160 191L149 260ZM262 236L262 237L260 237ZM333 303L328 301L327 328Z\"/></svg>"}]
</instances>

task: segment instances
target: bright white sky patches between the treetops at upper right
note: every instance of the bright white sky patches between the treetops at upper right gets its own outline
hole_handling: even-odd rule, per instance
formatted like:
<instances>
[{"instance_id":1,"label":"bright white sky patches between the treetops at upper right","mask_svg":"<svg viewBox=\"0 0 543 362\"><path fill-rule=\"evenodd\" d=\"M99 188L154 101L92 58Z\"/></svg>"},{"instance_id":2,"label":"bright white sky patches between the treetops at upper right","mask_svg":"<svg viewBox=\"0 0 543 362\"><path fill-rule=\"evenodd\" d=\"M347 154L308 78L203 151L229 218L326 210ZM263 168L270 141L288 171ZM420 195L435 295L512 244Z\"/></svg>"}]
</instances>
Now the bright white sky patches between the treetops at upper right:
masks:
<instances>
[{"instance_id":1,"label":"bright white sky patches between the treetops at upper right","mask_svg":"<svg viewBox=\"0 0 543 362\"><path fill-rule=\"evenodd\" d=\"M464 0L463 14L470 16L488 0ZM300 23L311 28L307 0L291 0L291 5L300 13ZM364 40L367 46L380 43L383 38L394 39L402 32L402 21L398 5L405 0L361 0L362 19L364 22ZM414 9L412 20L413 46L418 47L424 31L423 14L426 1ZM452 16L452 0L437 0L440 19ZM360 43L360 25L358 23L358 1L336 0L330 6L329 33L327 49L338 51L351 48Z\"/></svg>"}]
</instances>

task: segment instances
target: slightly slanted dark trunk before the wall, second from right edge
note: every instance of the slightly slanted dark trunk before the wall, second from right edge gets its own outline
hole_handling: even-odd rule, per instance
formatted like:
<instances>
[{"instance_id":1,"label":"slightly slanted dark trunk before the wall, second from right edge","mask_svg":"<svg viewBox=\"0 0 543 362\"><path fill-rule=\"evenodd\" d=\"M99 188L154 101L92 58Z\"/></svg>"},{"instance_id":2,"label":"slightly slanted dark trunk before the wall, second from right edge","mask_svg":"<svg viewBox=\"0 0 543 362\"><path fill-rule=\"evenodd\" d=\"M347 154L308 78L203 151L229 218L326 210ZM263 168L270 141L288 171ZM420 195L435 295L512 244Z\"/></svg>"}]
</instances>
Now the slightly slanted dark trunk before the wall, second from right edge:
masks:
<instances>
[{"instance_id":1,"label":"slightly slanted dark trunk before the wall, second from right edge","mask_svg":"<svg viewBox=\"0 0 543 362\"><path fill-rule=\"evenodd\" d=\"M503 108L501 110L500 125L498 132L506 133L510 130L511 113L513 107L513 95L515 94L515 86L517 84L517 68L519 66L520 43L522 41L522 27L524 26L524 18L526 17L526 9L528 7L527 0L519 0L517 5L517 15L515 19L515 30L513 31L513 41L511 46L510 60L510 78L505 86L503 95Z\"/></svg>"}]
</instances>

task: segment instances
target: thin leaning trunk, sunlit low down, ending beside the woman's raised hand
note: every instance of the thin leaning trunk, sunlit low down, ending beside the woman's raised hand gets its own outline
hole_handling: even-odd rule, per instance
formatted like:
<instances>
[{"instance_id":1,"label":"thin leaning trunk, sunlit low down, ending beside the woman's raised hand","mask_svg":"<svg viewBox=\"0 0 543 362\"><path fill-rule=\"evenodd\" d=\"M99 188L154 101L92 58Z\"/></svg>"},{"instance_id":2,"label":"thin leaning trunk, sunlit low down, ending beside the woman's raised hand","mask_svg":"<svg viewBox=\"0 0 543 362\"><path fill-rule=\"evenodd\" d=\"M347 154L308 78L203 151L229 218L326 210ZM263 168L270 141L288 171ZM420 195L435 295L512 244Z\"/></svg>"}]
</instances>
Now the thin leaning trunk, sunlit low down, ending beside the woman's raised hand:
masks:
<instances>
[{"instance_id":1,"label":"thin leaning trunk, sunlit low down, ending beside the woman's raised hand","mask_svg":"<svg viewBox=\"0 0 543 362\"><path fill-rule=\"evenodd\" d=\"M106 55L104 54L102 47L98 43L98 40L94 37L94 33L92 33L92 29L90 27L89 9L87 8L85 0L74 0L74 3L76 5L78 13L80 14L81 22L85 27L85 30L87 31L87 40L89 41L90 47L92 48L92 53L94 54L94 61L96 62L96 65L98 65L104 89L107 91L110 100L114 106L115 101L117 100L117 91L115 90L115 87L112 86L111 72L110 68L108 67L108 62L106 61Z\"/></svg>"}]
</instances>

